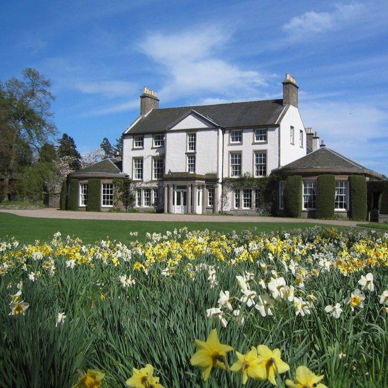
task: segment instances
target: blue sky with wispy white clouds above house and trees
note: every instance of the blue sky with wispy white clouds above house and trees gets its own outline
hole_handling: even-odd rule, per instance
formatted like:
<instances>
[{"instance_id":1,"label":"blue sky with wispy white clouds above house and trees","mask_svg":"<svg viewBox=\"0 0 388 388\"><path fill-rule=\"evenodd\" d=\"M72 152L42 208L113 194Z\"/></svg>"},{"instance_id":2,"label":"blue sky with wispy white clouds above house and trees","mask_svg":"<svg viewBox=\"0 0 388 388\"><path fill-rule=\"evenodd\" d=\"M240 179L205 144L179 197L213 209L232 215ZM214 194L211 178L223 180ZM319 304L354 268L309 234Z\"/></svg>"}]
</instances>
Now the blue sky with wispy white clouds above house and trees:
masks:
<instances>
[{"instance_id":1,"label":"blue sky with wispy white clouds above house and trees","mask_svg":"<svg viewBox=\"0 0 388 388\"><path fill-rule=\"evenodd\" d=\"M388 1L1 1L0 80L52 82L54 121L81 153L160 107L282 97L305 127L388 175Z\"/></svg>"}]
</instances>

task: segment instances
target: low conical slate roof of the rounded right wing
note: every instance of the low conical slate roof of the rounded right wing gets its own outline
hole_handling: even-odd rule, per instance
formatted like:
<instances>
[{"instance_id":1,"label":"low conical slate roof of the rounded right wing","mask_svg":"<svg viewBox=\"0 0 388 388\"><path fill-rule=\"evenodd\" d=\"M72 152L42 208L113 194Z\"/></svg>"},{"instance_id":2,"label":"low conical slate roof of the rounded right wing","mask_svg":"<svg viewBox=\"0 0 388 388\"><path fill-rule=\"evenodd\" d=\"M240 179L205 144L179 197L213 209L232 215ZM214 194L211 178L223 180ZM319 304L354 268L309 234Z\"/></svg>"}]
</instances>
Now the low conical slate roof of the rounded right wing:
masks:
<instances>
[{"instance_id":1,"label":"low conical slate roof of the rounded right wing","mask_svg":"<svg viewBox=\"0 0 388 388\"><path fill-rule=\"evenodd\" d=\"M375 178L380 177L380 174L375 171L372 171L327 147L318 148L294 162L272 170L275 174L314 171L325 173L365 174Z\"/></svg>"}]
</instances>

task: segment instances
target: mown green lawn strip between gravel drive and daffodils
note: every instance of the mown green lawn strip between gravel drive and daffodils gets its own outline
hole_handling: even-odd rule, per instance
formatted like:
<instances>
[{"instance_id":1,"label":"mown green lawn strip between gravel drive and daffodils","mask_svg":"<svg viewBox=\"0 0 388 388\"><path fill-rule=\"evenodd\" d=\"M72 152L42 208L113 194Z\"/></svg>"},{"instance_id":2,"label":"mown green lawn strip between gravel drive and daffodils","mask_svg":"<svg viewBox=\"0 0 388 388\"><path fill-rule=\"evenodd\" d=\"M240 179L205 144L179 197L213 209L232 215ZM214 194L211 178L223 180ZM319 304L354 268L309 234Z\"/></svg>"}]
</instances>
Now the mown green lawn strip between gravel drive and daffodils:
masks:
<instances>
[{"instance_id":1,"label":"mown green lawn strip between gravel drive and daffodils","mask_svg":"<svg viewBox=\"0 0 388 388\"><path fill-rule=\"evenodd\" d=\"M15 237L16 240L25 243L33 243L35 240L47 241L56 232L63 236L79 237L85 244L94 243L97 240L117 240L128 243L138 239L144 241L146 233L165 233L167 230L187 226L189 230L204 230L227 233L257 227L259 232L276 232L280 228L291 230L295 228L305 229L315 224L305 222L276 223L276 222L150 222L150 221L117 221L117 220L73 220L53 218L20 217L10 213L0 213L0 239ZM337 227L324 225L323 227ZM129 235L129 232L138 232L138 237Z\"/></svg>"}]
</instances>

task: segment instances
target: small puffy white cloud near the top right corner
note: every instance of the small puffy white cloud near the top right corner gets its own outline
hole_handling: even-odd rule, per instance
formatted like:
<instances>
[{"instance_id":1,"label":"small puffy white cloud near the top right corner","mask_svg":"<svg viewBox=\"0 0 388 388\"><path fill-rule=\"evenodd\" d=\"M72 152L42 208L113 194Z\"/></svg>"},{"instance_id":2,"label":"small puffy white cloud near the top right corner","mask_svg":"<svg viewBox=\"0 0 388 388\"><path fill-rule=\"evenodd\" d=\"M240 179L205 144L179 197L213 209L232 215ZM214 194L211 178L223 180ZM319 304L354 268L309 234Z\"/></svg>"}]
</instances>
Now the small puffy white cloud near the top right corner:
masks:
<instances>
[{"instance_id":1,"label":"small puffy white cloud near the top right corner","mask_svg":"<svg viewBox=\"0 0 388 388\"><path fill-rule=\"evenodd\" d=\"M352 21L362 14L363 5L359 3L336 4L332 12L305 12L301 16L293 17L283 25L283 30L291 35L307 35L326 31L336 31L343 28L345 23Z\"/></svg>"}]
</instances>

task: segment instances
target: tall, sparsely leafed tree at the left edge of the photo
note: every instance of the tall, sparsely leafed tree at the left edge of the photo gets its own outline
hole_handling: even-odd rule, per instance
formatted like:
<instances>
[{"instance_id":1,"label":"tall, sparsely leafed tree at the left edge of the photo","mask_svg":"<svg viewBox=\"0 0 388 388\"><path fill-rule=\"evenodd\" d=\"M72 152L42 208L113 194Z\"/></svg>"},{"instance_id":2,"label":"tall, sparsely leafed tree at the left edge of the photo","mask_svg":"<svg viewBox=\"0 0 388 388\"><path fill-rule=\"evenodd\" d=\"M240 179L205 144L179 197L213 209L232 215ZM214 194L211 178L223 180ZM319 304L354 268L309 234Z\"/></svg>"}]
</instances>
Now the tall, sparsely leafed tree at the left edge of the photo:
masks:
<instances>
[{"instance_id":1,"label":"tall, sparsely leafed tree at the left edge of the photo","mask_svg":"<svg viewBox=\"0 0 388 388\"><path fill-rule=\"evenodd\" d=\"M3 201L8 201L10 180L17 177L20 161L30 157L57 133L51 121L51 83L37 70L23 70L23 80L0 83L1 178Z\"/></svg>"}]
</instances>

